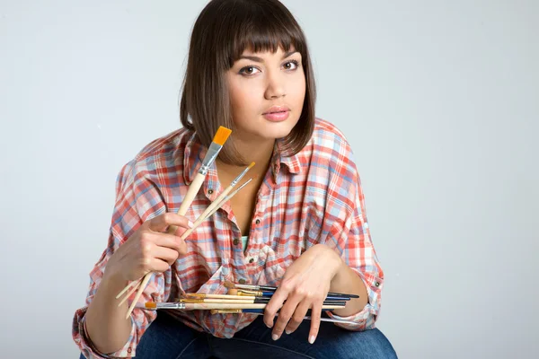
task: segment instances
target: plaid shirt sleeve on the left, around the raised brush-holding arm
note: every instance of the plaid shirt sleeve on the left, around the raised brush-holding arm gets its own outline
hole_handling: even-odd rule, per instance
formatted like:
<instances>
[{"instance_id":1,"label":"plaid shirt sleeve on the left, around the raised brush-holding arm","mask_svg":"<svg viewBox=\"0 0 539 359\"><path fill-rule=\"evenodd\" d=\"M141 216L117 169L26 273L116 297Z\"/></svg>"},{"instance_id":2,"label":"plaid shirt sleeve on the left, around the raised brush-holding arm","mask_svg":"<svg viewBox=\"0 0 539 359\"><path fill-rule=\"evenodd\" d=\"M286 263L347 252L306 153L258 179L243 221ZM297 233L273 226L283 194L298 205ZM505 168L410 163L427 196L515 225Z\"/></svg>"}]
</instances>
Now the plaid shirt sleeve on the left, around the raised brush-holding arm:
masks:
<instances>
[{"instance_id":1,"label":"plaid shirt sleeve on the left, around the raised brush-holding arm","mask_svg":"<svg viewBox=\"0 0 539 359\"><path fill-rule=\"evenodd\" d=\"M136 355L137 344L146 328L155 320L155 311L145 311L135 308L131 313L131 332L125 346L114 353L100 353L86 335L85 313L99 287L103 273L110 257L119 246L128 240L129 236L146 220L160 215L165 211L160 192L143 171L137 171L134 161L122 167L116 181L116 202L110 224L110 234L107 247L101 258L90 272L90 285L85 304L75 311L72 325L72 337L81 353L87 359L93 358L124 358ZM167 272L153 274L139 302L163 302L170 293L170 269ZM133 293L130 300L136 293Z\"/></svg>"}]
</instances>

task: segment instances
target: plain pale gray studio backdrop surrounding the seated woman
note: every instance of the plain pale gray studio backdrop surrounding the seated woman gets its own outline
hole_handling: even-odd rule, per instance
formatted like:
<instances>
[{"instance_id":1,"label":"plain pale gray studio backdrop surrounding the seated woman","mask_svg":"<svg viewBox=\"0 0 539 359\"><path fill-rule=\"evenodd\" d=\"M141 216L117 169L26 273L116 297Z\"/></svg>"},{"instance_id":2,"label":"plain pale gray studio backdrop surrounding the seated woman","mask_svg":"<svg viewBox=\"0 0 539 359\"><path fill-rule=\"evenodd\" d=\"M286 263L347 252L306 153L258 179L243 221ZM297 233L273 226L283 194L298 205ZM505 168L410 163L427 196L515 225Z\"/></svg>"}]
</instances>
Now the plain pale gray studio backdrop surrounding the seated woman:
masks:
<instances>
[{"instance_id":1,"label":"plain pale gray studio backdrop surrounding the seated woman","mask_svg":"<svg viewBox=\"0 0 539 359\"><path fill-rule=\"evenodd\" d=\"M2 1L3 358L75 358L120 167L179 127L205 1ZM402 358L537 357L539 4L285 1L356 153Z\"/></svg>"}]
</instances>

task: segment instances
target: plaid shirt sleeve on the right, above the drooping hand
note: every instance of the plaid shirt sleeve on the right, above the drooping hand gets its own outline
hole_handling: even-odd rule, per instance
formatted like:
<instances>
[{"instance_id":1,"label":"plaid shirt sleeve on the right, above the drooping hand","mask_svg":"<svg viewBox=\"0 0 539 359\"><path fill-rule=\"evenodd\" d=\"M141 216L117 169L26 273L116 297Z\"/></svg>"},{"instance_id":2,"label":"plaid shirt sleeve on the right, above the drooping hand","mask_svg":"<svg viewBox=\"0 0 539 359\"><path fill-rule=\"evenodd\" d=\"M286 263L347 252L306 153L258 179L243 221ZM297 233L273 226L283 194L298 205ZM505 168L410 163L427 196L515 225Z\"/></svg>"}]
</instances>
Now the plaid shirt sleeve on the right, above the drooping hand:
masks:
<instances>
[{"instance_id":1,"label":"plaid shirt sleeve on the right, above the drooping hand","mask_svg":"<svg viewBox=\"0 0 539 359\"><path fill-rule=\"evenodd\" d=\"M348 144L340 149L338 160L331 166L331 186L324 213L325 244L340 253L345 263L363 280L368 301L365 308L349 317L328 312L331 318L349 320L357 324L335 323L349 330L375 328L380 312L384 272L371 240L365 209L365 197L358 170Z\"/></svg>"}]
</instances>

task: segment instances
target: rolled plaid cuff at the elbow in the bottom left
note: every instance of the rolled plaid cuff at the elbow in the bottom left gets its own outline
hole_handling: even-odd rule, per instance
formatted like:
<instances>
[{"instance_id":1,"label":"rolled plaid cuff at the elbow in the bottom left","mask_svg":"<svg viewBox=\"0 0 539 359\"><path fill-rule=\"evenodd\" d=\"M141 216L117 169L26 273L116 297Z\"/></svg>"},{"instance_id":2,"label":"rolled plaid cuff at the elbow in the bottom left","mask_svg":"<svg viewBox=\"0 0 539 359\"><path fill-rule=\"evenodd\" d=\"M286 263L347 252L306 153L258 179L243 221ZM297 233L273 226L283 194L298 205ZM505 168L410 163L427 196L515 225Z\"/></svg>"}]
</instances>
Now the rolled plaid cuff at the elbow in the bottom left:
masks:
<instances>
[{"instance_id":1,"label":"rolled plaid cuff at the elbow in the bottom left","mask_svg":"<svg viewBox=\"0 0 539 359\"><path fill-rule=\"evenodd\" d=\"M81 350L81 353L86 359L115 359L115 358L130 358L136 355L136 343L137 343L137 327L133 322L133 316L131 316L131 332L128 337L128 341L125 346L120 348L114 353L101 353L93 345L90 337L86 334L86 318L84 317L85 309L77 311L75 314L75 320L78 323L78 333L74 333L75 344ZM76 331L76 328L75 328Z\"/></svg>"}]
</instances>

